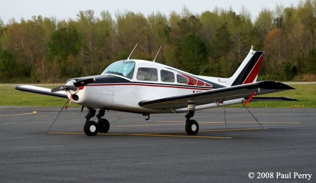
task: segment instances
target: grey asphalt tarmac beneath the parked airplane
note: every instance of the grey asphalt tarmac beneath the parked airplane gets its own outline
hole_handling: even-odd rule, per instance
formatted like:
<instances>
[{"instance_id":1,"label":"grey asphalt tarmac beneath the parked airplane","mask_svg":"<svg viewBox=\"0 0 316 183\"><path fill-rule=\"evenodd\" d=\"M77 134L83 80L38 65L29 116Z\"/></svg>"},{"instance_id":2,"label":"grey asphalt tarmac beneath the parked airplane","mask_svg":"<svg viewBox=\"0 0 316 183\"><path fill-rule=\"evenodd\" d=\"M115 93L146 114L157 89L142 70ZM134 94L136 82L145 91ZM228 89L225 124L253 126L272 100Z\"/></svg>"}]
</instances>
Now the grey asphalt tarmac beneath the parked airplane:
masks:
<instances>
[{"instance_id":1,"label":"grey asphalt tarmac beneath the parked airplane","mask_svg":"<svg viewBox=\"0 0 316 183\"><path fill-rule=\"evenodd\" d=\"M44 133L59 111L0 106L0 182L316 182L315 108L251 108L266 129L246 109L226 108L227 130L223 108L197 111L194 136L184 114L145 121L114 111L109 133L86 136L85 113L70 108Z\"/></svg>"}]
</instances>

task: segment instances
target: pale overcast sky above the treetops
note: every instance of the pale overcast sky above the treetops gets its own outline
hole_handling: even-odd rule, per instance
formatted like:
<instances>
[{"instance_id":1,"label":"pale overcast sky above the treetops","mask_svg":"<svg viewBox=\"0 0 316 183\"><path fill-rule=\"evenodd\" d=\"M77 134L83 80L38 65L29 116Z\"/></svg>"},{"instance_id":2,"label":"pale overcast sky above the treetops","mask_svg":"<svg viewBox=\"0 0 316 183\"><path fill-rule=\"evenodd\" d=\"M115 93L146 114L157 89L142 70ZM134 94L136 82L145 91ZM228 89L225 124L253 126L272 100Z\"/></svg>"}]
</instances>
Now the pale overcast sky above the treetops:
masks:
<instances>
[{"instance_id":1,"label":"pale overcast sky above the treetops","mask_svg":"<svg viewBox=\"0 0 316 183\"><path fill-rule=\"evenodd\" d=\"M102 10L109 10L113 18L115 12L125 10L141 12L145 16L158 11L169 15L171 11L181 13L185 5L194 14L213 11L215 7L232 7L238 14L244 6L255 20L263 8L273 10L276 4L288 7L298 3L299 0L0 0L0 18L5 24L12 17L20 22L22 17L28 20L34 15L68 20L76 19L80 10L88 9L94 10L95 16Z\"/></svg>"}]
</instances>

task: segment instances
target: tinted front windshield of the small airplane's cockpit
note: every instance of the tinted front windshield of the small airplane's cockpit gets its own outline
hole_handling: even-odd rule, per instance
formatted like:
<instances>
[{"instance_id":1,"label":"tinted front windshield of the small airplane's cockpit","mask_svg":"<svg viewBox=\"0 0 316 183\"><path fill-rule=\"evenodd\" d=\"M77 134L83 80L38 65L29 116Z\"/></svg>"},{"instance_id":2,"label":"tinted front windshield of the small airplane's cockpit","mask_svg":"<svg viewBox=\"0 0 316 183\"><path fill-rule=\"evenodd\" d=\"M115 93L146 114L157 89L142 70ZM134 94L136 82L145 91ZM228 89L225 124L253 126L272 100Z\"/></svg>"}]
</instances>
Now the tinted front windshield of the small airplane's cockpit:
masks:
<instances>
[{"instance_id":1,"label":"tinted front windshield of the small airplane's cockpit","mask_svg":"<svg viewBox=\"0 0 316 183\"><path fill-rule=\"evenodd\" d=\"M134 61L117 61L106 68L102 74L115 74L132 79L135 69Z\"/></svg>"}]
</instances>

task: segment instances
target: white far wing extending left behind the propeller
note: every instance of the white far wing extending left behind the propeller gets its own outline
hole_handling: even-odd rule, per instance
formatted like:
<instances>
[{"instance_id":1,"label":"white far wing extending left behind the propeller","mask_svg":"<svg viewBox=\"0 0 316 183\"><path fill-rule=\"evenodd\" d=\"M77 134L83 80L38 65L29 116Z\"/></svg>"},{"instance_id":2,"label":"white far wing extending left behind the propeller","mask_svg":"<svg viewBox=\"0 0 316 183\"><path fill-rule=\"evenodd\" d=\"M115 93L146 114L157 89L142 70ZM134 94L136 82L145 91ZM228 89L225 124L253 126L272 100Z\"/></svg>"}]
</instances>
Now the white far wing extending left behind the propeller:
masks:
<instances>
[{"instance_id":1,"label":"white far wing extending left behind the propeller","mask_svg":"<svg viewBox=\"0 0 316 183\"><path fill-rule=\"evenodd\" d=\"M30 92L34 92L34 93L47 94L47 95L51 95L51 96L59 96L59 97L63 97L63 98L68 98L66 91L50 92L51 89L36 87L36 86L31 86L31 85L18 85L15 87L15 89L20 90L20 91L30 91Z\"/></svg>"}]
</instances>

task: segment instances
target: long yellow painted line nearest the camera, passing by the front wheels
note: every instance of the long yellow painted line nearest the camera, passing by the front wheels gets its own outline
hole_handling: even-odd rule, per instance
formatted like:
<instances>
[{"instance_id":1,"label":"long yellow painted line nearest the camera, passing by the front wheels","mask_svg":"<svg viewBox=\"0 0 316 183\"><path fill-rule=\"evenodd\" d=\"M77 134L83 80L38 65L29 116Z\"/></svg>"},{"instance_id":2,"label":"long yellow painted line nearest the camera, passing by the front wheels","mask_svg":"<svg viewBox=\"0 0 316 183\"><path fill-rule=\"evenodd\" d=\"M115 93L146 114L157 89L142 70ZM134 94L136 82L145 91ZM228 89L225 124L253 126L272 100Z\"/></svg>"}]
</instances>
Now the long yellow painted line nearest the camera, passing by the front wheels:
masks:
<instances>
[{"instance_id":1,"label":"long yellow painted line nearest the camera, passing by the front wheels","mask_svg":"<svg viewBox=\"0 0 316 183\"><path fill-rule=\"evenodd\" d=\"M50 134L84 134L79 132L48 132ZM232 139L233 137L196 136L196 135L159 135L150 133L98 133L99 135L126 135L126 136L157 136L157 137L192 137L192 138L213 138Z\"/></svg>"}]
</instances>

